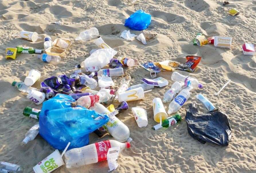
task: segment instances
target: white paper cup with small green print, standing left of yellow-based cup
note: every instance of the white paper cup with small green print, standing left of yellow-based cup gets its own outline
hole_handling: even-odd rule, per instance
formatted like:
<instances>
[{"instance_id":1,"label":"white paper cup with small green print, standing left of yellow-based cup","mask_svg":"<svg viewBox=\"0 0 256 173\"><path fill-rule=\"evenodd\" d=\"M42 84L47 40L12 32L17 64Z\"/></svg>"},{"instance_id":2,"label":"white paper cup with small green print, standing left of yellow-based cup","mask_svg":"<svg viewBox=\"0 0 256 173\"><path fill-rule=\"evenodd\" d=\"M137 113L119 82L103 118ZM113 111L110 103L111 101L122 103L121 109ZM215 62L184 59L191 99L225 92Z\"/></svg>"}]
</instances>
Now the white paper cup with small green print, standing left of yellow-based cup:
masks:
<instances>
[{"instance_id":1,"label":"white paper cup with small green print, standing left of yellow-based cup","mask_svg":"<svg viewBox=\"0 0 256 173\"><path fill-rule=\"evenodd\" d=\"M146 110L141 107L133 107L132 112L139 128L146 127L148 125L148 116Z\"/></svg>"}]
</instances>

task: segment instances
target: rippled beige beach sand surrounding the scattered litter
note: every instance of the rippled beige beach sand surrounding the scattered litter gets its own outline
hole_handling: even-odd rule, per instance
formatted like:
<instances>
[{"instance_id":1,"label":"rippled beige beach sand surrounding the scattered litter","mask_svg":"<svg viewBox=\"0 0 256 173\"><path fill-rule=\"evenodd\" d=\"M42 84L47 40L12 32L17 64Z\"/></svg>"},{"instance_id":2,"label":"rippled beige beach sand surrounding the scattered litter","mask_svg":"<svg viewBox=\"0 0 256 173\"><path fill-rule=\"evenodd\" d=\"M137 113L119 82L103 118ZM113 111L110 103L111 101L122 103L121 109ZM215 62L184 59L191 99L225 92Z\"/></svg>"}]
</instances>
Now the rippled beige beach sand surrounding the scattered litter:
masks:
<instances>
[{"instance_id":1,"label":"rippled beige beach sand surrounding the scattered litter","mask_svg":"<svg viewBox=\"0 0 256 173\"><path fill-rule=\"evenodd\" d=\"M118 159L120 164L114 172L256 172L256 56L243 55L243 43L256 43L256 1L235 0L234 4L222 6L217 0L141 1L128 6L127 0L2 0L0 2L0 160L22 165L27 172L54 151L39 135L27 146L19 144L25 133L37 120L24 117L26 106L41 109L11 86L13 80L24 81L30 69L38 69L42 77L33 87L40 88L40 82L50 76L70 75L74 65L89 57L89 51L97 48L92 41L75 41L85 29L96 27L103 40L118 51L118 56L127 56L138 62L175 60L185 62L185 55L202 56L193 73L181 74L197 78L203 89L194 89L191 98L178 111L183 118L188 104L195 101L202 112L206 108L196 98L204 94L216 108L229 118L232 138L228 146L201 144L187 133L185 120L180 124L157 131L151 127L153 120L152 100L163 98L173 83L172 72L163 71L158 77L168 79L169 85L146 94L144 100L129 102L129 109L118 118L131 132L131 148L124 150ZM241 13L231 16L227 10L237 8ZM151 25L145 34L157 34L143 45L138 40L126 41L120 33L127 29L124 21L138 9L152 15ZM62 21L63 25L52 24ZM35 54L22 54L15 60L5 59L5 48L27 45L43 49L43 39L35 43L13 34L22 30L35 31L40 37L50 35L52 39L70 38L74 41L61 63L53 65L37 59ZM196 33L209 36L232 37L232 48L218 48L213 45L194 46L191 40ZM138 35L141 31L131 31ZM150 78L148 71L138 64L125 68L125 75L131 75L131 84L140 83L143 77ZM223 85L231 82L214 96ZM113 77L116 86L121 77ZM99 88L97 88L99 89ZM115 104L117 105L117 104ZM131 108L141 106L148 113L148 126L138 128ZM164 104L166 110L168 104ZM99 139L90 135L90 143L113 139L105 135ZM107 162L67 169L65 166L54 172L107 172Z\"/></svg>"}]
</instances>

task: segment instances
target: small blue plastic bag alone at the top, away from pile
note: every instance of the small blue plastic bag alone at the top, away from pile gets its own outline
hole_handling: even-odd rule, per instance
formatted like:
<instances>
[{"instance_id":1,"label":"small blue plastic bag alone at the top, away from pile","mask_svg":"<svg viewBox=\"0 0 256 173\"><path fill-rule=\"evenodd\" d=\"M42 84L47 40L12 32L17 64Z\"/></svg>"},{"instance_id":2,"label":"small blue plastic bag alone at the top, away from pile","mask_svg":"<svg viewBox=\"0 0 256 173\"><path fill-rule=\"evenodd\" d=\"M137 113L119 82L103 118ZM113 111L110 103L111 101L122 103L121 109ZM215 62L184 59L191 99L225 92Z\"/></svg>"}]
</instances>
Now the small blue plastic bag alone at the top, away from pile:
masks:
<instances>
[{"instance_id":1,"label":"small blue plastic bag alone at the top, away from pile","mask_svg":"<svg viewBox=\"0 0 256 173\"><path fill-rule=\"evenodd\" d=\"M151 15L145 13L143 10L138 10L125 20L124 26L132 30L141 31L146 29L151 22Z\"/></svg>"}]
</instances>

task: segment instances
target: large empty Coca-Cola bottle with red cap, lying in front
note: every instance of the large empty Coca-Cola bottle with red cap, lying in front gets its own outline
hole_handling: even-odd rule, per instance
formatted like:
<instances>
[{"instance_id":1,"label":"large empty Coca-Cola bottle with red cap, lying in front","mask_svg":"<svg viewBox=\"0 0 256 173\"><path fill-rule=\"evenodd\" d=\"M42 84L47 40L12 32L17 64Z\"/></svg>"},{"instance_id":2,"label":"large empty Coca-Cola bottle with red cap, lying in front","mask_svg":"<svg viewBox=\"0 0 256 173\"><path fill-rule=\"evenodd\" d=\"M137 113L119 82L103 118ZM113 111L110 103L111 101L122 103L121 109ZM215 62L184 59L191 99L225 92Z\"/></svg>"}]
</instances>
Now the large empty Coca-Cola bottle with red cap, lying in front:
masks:
<instances>
[{"instance_id":1,"label":"large empty Coca-Cola bottle with red cap, lying in front","mask_svg":"<svg viewBox=\"0 0 256 173\"><path fill-rule=\"evenodd\" d=\"M77 168L79 166L107 160L108 149L118 146L120 147L120 151L122 151L124 148L130 148L130 143L121 143L116 140L106 140L81 148L73 148L68 150L64 154L66 167Z\"/></svg>"}]
</instances>

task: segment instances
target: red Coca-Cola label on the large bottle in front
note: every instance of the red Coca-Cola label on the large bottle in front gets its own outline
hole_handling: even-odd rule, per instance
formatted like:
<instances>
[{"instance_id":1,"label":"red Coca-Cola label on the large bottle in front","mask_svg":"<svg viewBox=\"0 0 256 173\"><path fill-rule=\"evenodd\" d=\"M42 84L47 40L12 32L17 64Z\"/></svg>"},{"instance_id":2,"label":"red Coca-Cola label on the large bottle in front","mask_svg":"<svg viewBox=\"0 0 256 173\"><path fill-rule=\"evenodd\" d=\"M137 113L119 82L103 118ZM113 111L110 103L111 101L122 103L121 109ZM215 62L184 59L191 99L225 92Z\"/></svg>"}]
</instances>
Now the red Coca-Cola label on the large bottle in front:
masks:
<instances>
[{"instance_id":1,"label":"red Coca-Cola label on the large bottle in front","mask_svg":"<svg viewBox=\"0 0 256 173\"><path fill-rule=\"evenodd\" d=\"M111 148L111 144L109 140L97 142L95 143L97 154L98 154L98 162L103 160L107 160L108 149Z\"/></svg>"}]
</instances>

